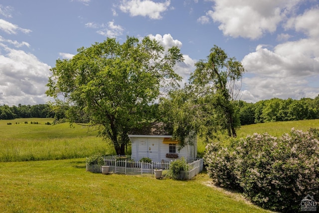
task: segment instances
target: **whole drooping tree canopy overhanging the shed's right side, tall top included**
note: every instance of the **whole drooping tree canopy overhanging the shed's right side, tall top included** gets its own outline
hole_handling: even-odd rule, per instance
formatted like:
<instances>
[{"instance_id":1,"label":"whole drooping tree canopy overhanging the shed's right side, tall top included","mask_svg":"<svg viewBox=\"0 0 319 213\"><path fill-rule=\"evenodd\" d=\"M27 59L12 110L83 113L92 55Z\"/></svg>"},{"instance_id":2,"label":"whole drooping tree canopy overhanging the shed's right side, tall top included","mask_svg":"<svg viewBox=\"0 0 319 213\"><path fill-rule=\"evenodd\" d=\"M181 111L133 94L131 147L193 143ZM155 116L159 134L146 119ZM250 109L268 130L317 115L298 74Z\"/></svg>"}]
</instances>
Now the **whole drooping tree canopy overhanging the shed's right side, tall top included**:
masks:
<instances>
[{"instance_id":1,"label":"whole drooping tree canopy overhanging the shed's right side, tall top included","mask_svg":"<svg viewBox=\"0 0 319 213\"><path fill-rule=\"evenodd\" d=\"M243 65L214 46L207 59L199 60L195 66L183 89L171 91L160 100L164 119L172 124L173 137L181 142L180 146L185 145L191 131L200 133L207 141L220 130L236 137L240 120L234 100L245 71Z\"/></svg>"}]
</instances>

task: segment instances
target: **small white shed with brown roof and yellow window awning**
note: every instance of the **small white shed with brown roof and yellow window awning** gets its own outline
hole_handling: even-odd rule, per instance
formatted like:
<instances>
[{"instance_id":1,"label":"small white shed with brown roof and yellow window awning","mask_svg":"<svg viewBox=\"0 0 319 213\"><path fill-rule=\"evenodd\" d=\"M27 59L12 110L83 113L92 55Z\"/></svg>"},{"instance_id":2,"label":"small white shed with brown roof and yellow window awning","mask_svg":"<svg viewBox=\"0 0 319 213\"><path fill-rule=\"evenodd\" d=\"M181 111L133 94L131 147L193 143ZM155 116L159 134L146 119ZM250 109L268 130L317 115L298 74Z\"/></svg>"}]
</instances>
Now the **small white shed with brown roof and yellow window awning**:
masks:
<instances>
[{"instance_id":1,"label":"small white shed with brown roof and yellow window awning","mask_svg":"<svg viewBox=\"0 0 319 213\"><path fill-rule=\"evenodd\" d=\"M191 161L197 157L197 137L192 145L185 145L178 151L178 141L171 140L170 131L166 130L166 125L161 122L132 130L129 138L132 142L132 159L139 161L143 157L151 158L153 162L168 162L184 157ZM188 143L187 143L188 144Z\"/></svg>"}]
</instances>

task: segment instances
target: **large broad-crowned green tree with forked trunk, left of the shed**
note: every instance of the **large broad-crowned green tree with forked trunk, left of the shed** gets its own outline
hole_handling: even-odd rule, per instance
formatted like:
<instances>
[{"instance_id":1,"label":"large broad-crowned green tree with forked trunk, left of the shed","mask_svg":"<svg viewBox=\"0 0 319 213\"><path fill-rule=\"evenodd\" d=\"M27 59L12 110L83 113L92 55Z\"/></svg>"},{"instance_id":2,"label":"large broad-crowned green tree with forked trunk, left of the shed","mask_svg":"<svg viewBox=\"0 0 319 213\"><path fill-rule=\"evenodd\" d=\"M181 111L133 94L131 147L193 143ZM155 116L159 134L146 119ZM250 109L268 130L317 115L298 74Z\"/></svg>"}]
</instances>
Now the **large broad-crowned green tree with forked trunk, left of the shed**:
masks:
<instances>
[{"instance_id":1,"label":"large broad-crowned green tree with forked trunk, left of the shed","mask_svg":"<svg viewBox=\"0 0 319 213\"><path fill-rule=\"evenodd\" d=\"M150 106L162 88L178 85L173 68L182 60L176 46L165 50L150 37L127 37L122 44L107 38L78 49L72 59L58 59L46 94L76 107L74 112L85 111L100 136L123 155L128 131L150 120Z\"/></svg>"}]
</instances>

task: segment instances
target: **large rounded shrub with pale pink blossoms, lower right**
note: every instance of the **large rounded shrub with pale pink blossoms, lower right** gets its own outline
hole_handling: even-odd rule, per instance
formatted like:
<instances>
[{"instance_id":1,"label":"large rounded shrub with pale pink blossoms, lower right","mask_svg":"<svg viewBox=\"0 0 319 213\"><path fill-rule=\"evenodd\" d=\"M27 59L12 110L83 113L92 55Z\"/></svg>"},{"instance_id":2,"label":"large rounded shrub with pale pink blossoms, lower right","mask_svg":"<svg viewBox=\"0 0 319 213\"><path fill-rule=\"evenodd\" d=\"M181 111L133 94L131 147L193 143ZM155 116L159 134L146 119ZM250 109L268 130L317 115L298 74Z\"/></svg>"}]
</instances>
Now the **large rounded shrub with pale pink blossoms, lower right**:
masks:
<instances>
[{"instance_id":1,"label":"large rounded shrub with pale pink blossoms, lower right","mask_svg":"<svg viewBox=\"0 0 319 213\"><path fill-rule=\"evenodd\" d=\"M292 129L276 138L254 134L230 146L209 144L204 156L214 183L242 191L259 206L297 212L306 195L319 195L319 129Z\"/></svg>"}]
</instances>

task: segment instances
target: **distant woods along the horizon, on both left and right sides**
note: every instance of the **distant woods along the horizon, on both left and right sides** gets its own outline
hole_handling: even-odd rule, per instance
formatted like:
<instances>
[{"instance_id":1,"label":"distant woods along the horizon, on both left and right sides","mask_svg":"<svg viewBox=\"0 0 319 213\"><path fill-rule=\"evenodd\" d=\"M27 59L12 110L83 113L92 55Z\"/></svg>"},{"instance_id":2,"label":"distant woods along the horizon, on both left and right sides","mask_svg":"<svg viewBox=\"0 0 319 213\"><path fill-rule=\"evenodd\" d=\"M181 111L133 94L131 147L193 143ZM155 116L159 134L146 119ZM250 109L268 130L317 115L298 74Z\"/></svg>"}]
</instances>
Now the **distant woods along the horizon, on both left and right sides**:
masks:
<instances>
[{"instance_id":1,"label":"distant woods along the horizon, on both left and right sides","mask_svg":"<svg viewBox=\"0 0 319 213\"><path fill-rule=\"evenodd\" d=\"M319 119L319 95L316 98L280 99L272 98L256 103L237 101L241 125ZM69 107L53 107L50 104L8 106L0 105L0 120L15 118L55 118L65 119ZM81 119L80 119L81 118ZM78 121L89 122L88 116L82 114Z\"/></svg>"}]
</instances>

